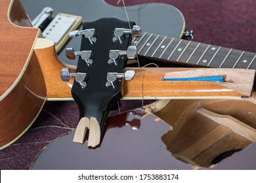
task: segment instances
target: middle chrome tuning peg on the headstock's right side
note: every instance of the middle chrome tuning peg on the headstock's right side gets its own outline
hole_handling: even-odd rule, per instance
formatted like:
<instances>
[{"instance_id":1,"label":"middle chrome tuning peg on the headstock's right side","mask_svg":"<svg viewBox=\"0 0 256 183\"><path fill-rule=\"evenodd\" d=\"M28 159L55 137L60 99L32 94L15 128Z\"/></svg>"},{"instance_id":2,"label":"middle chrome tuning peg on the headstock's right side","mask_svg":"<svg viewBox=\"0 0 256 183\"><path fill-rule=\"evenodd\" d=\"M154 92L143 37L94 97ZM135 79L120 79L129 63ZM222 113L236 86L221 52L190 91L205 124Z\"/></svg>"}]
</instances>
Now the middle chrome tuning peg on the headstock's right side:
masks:
<instances>
[{"instance_id":1,"label":"middle chrome tuning peg on the headstock's right side","mask_svg":"<svg viewBox=\"0 0 256 183\"><path fill-rule=\"evenodd\" d=\"M120 56L124 56L124 55L127 55L128 59L135 59L136 52L137 52L136 46L129 46L126 51L110 50L110 54L109 54L110 59L108 59L108 63L109 64L114 63L115 65L117 65L116 61L120 58Z\"/></svg>"}]
</instances>

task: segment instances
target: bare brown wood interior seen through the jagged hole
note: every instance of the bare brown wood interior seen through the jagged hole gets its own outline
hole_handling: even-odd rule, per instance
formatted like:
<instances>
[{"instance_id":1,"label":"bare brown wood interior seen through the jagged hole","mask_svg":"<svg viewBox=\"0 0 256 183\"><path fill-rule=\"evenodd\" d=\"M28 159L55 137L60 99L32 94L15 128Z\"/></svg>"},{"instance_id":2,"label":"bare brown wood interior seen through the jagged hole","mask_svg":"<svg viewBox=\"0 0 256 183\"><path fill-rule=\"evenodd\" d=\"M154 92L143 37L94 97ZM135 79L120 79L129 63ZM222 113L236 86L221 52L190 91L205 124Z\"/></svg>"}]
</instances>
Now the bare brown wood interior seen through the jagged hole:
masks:
<instances>
[{"instance_id":1,"label":"bare brown wood interior seen through the jagged hole","mask_svg":"<svg viewBox=\"0 0 256 183\"><path fill-rule=\"evenodd\" d=\"M175 158L210 167L230 156L228 152L240 151L256 141L254 101L255 93L242 101L156 101L147 108L173 127L162 141Z\"/></svg>"}]
</instances>

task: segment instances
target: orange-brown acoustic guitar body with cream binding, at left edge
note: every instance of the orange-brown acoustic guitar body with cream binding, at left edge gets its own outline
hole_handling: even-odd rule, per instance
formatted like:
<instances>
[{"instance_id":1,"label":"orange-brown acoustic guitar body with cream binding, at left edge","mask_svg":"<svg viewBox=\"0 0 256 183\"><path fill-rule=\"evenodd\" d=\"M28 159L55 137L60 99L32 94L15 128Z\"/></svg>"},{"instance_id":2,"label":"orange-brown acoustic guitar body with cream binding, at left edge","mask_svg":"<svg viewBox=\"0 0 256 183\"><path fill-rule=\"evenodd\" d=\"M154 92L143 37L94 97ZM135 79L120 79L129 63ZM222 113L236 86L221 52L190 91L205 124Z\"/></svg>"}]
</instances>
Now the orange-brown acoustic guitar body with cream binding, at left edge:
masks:
<instances>
[{"instance_id":1,"label":"orange-brown acoustic guitar body with cream binding, at left edge","mask_svg":"<svg viewBox=\"0 0 256 183\"><path fill-rule=\"evenodd\" d=\"M39 29L20 1L0 2L0 149L18 139L41 111L46 88L33 46ZM16 24L16 25L14 25Z\"/></svg>"}]
</instances>

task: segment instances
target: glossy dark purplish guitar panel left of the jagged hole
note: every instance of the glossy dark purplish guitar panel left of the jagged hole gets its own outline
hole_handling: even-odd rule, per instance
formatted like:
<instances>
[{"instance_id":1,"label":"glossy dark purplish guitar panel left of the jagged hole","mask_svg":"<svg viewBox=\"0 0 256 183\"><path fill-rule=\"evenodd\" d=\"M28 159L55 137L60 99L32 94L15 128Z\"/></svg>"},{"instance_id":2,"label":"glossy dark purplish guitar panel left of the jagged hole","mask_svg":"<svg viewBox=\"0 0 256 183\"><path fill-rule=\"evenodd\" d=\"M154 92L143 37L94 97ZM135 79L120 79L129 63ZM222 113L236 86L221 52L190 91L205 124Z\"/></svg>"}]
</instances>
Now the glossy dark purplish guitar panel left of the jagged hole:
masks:
<instances>
[{"instance_id":1,"label":"glossy dark purplish guitar panel left of the jagged hole","mask_svg":"<svg viewBox=\"0 0 256 183\"><path fill-rule=\"evenodd\" d=\"M145 115L142 108L112 116L106 125L98 148L72 142L72 131L49 144L32 169L191 169L173 158L161 141L170 126Z\"/></svg>"}]
</instances>

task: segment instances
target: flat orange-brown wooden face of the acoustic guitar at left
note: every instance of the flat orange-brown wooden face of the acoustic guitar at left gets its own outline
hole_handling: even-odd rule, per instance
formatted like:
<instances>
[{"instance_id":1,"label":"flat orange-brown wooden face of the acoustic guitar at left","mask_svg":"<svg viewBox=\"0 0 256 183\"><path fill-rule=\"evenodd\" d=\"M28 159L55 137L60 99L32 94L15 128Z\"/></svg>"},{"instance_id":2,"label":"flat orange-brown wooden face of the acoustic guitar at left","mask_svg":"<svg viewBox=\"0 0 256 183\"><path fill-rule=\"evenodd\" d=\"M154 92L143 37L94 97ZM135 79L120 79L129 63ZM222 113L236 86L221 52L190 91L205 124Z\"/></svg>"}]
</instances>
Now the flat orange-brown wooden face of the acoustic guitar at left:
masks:
<instances>
[{"instance_id":1,"label":"flat orange-brown wooden face of the acoustic guitar at left","mask_svg":"<svg viewBox=\"0 0 256 183\"><path fill-rule=\"evenodd\" d=\"M12 4L15 6L12 7ZM39 29L18 27L10 22L10 12L20 10L18 9L20 6L16 5L19 4L11 0L3 0L0 3L0 101L11 92L24 75L33 53L33 44L40 33ZM14 18L14 15L12 14L12 20L19 20Z\"/></svg>"}]
</instances>

